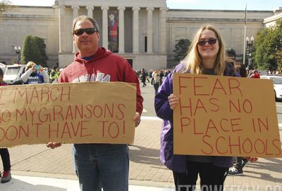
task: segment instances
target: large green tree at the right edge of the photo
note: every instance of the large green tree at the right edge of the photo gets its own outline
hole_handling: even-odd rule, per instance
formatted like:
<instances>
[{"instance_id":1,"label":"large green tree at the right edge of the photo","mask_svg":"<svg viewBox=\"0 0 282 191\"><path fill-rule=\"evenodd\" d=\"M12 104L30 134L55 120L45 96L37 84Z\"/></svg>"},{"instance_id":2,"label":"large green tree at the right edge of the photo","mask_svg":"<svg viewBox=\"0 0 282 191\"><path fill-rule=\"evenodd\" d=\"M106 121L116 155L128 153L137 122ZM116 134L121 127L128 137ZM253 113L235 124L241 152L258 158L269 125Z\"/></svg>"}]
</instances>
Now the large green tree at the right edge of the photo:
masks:
<instances>
[{"instance_id":1,"label":"large green tree at the right edge of the photo","mask_svg":"<svg viewBox=\"0 0 282 191\"><path fill-rule=\"evenodd\" d=\"M281 67L282 19L276 25L263 29L255 38L255 63L259 70L276 70Z\"/></svg>"}]
</instances>

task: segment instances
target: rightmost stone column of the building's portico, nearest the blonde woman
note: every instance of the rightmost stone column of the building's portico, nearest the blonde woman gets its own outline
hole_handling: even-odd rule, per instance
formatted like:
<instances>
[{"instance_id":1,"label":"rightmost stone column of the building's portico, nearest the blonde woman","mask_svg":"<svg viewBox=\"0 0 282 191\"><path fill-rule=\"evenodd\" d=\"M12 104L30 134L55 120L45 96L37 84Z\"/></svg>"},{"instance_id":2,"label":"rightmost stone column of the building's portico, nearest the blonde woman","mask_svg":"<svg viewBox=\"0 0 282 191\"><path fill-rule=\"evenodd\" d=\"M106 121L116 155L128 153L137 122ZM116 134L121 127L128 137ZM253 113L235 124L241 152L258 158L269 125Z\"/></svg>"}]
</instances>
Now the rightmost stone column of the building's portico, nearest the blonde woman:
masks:
<instances>
[{"instance_id":1,"label":"rightmost stone column of the building's portico, nearest the blonde woman","mask_svg":"<svg viewBox=\"0 0 282 191\"><path fill-rule=\"evenodd\" d=\"M166 8L159 8L159 53L166 53Z\"/></svg>"}]
</instances>

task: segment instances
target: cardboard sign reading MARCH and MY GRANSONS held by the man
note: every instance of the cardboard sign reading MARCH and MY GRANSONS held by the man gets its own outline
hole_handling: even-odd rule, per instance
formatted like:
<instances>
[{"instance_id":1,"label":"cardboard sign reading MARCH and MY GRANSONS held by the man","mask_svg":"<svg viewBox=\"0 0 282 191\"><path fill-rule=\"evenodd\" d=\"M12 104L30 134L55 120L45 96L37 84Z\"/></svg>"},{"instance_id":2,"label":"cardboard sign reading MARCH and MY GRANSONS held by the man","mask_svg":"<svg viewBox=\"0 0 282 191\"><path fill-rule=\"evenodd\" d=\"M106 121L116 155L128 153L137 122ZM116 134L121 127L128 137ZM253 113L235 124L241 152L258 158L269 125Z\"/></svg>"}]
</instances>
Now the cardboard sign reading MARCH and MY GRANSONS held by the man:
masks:
<instances>
[{"instance_id":1,"label":"cardboard sign reading MARCH and MY GRANSONS held by the man","mask_svg":"<svg viewBox=\"0 0 282 191\"><path fill-rule=\"evenodd\" d=\"M123 82L0 87L0 147L133 143L136 85Z\"/></svg>"}]
</instances>

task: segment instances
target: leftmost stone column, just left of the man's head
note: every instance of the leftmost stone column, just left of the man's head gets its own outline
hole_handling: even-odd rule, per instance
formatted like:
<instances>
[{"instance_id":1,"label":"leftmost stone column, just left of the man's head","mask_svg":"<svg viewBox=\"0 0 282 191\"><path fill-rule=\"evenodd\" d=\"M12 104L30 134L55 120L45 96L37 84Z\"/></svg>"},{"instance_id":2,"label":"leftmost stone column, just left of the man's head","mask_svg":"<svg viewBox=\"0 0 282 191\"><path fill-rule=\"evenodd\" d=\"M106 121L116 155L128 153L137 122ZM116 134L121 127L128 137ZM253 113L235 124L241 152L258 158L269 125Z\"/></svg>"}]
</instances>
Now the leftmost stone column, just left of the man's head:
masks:
<instances>
[{"instance_id":1,"label":"leftmost stone column, just left of the man's head","mask_svg":"<svg viewBox=\"0 0 282 191\"><path fill-rule=\"evenodd\" d=\"M66 52L66 6L59 6L59 53Z\"/></svg>"}]
</instances>

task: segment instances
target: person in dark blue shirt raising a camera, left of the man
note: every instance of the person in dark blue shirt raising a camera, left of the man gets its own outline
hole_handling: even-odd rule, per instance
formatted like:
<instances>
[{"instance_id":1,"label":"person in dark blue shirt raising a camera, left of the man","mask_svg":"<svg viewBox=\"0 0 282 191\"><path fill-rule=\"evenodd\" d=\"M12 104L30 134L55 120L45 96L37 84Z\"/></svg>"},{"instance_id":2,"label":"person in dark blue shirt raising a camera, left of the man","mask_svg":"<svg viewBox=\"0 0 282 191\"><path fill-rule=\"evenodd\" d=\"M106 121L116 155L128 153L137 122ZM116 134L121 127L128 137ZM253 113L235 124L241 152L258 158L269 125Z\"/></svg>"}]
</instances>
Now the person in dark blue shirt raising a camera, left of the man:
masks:
<instances>
[{"instance_id":1,"label":"person in dark blue shirt raising a camera, left of the man","mask_svg":"<svg viewBox=\"0 0 282 191\"><path fill-rule=\"evenodd\" d=\"M27 62L25 73L20 76L23 84L44 84L49 83L49 75L43 67L36 65L35 62Z\"/></svg>"}]
</instances>

